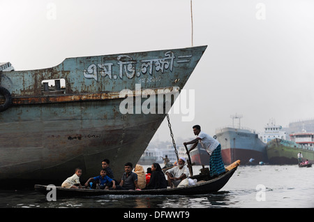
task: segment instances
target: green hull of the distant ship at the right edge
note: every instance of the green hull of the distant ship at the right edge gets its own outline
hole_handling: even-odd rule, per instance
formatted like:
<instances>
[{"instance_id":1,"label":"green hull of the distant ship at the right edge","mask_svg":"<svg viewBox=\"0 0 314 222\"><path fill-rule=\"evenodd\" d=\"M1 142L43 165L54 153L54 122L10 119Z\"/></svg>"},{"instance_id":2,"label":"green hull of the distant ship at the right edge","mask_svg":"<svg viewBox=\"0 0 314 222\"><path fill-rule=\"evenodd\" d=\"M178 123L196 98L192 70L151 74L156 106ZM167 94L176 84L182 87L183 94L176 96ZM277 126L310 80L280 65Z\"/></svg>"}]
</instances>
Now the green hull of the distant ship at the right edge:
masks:
<instances>
[{"instance_id":1,"label":"green hull of the distant ship at the right edge","mask_svg":"<svg viewBox=\"0 0 314 222\"><path fill-rule=\"evenodd\" d=\"M271 164L298 164L298 153L301 152L303 160L308 159L314 163L314 151L296 142L274 139L267 143L267 156Z\"/></svg>"}]
</instances>

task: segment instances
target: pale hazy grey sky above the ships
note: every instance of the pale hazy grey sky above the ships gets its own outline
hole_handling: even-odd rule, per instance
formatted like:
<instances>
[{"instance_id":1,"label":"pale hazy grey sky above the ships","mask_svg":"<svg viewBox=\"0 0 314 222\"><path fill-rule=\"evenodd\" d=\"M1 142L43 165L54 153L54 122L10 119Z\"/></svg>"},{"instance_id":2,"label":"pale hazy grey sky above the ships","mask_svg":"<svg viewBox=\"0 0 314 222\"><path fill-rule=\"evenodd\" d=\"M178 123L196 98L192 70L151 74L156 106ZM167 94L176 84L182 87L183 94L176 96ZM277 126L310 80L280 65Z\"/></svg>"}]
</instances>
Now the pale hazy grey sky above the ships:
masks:
<instances>
[{"instance_id":1,"label":"pale hazy grey sky above the ships","mask_svg":"<svg viewBox=\"0 0 314 222\"><path fill-rule=\"evenodd\" d=\"M0 61L20 71L190 47L190 16L190 0L0 0ZM313 0L193 0L193 45L208 45L186 84L195 117L170 115L175 138L194 124L214 135L236 113L257 131L314 118ZM166 121L157 138L170 140Z\"/></svg>"}]
</instances>

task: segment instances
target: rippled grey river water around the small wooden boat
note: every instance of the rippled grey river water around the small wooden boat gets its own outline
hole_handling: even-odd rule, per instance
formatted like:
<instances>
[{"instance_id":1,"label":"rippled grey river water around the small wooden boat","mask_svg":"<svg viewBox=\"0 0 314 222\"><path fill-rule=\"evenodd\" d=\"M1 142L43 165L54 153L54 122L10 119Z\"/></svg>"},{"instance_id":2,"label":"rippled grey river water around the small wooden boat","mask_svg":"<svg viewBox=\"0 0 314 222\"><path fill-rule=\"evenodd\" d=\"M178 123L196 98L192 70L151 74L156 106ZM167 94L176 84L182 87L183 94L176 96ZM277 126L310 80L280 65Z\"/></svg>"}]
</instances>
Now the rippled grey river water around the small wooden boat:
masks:
<instances>
[{"instance_id":1,"label":"rippled grey river water around the small wooden boat","mask_svg":"<svg viewBox=\"0 0 314 222\"><path fill-rule=\"evenodd\" d=\"M143 166L144 169L150 166ZM198 172L200 166L193 166ZM217 193L207 195L102 195L57 198L30 190L1 190L1 208L309 208L314 207L314 168L240 165Z\"/></svg>"}]
</instances>

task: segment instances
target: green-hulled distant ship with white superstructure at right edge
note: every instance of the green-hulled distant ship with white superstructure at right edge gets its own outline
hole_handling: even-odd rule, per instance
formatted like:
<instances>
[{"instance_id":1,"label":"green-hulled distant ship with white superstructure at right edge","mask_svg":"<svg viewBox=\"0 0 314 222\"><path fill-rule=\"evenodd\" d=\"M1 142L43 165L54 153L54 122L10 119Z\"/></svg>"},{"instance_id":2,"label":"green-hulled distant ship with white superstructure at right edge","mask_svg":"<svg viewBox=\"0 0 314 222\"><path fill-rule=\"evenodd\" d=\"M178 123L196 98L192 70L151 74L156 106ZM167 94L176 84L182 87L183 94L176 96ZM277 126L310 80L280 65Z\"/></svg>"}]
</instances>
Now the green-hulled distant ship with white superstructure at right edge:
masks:
<instances>
[{"instance_id":1,"label":"green-hulled distant ship with white superstructure at right edge","mask_svg":"<svg viewBox=\"0 0 314 222\"><path fill-rule=\"evenodd\" d=\"M291 133L290 140L274 139L267 143L267 156L271 164L298 164L298 153L314 163L314 133Z\"/></svg>"}]
</instances>

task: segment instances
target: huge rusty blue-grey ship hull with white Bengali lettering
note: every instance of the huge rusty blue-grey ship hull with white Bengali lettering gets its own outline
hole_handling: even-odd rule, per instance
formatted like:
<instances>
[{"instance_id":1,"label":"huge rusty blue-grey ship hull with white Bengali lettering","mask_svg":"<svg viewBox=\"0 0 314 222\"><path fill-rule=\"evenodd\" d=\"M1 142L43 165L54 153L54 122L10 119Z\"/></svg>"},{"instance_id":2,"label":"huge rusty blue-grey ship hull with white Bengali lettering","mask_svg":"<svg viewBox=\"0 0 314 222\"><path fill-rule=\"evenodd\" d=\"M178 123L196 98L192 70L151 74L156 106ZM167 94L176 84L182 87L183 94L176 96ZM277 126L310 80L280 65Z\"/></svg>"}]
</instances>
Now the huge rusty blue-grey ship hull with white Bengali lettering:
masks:
<instances>
[{"instance_id":1,"label":"huge rusty blue-grey ship hull with white Bengali lettering","mask_svg":"<svg viewBox=\"0 0 314 222\"><path fill-rule=\"evenodd\" d=\"M12 105L0 112L0 181L57 185L79 167L84 182L99 174L103 158L119 180L173 104L176 97L167 95L179 94L205 49L70 58L53 68L1 73ZM43 89L43 80L56 79L65 89Z\"/></svg>"}]
</instances>

